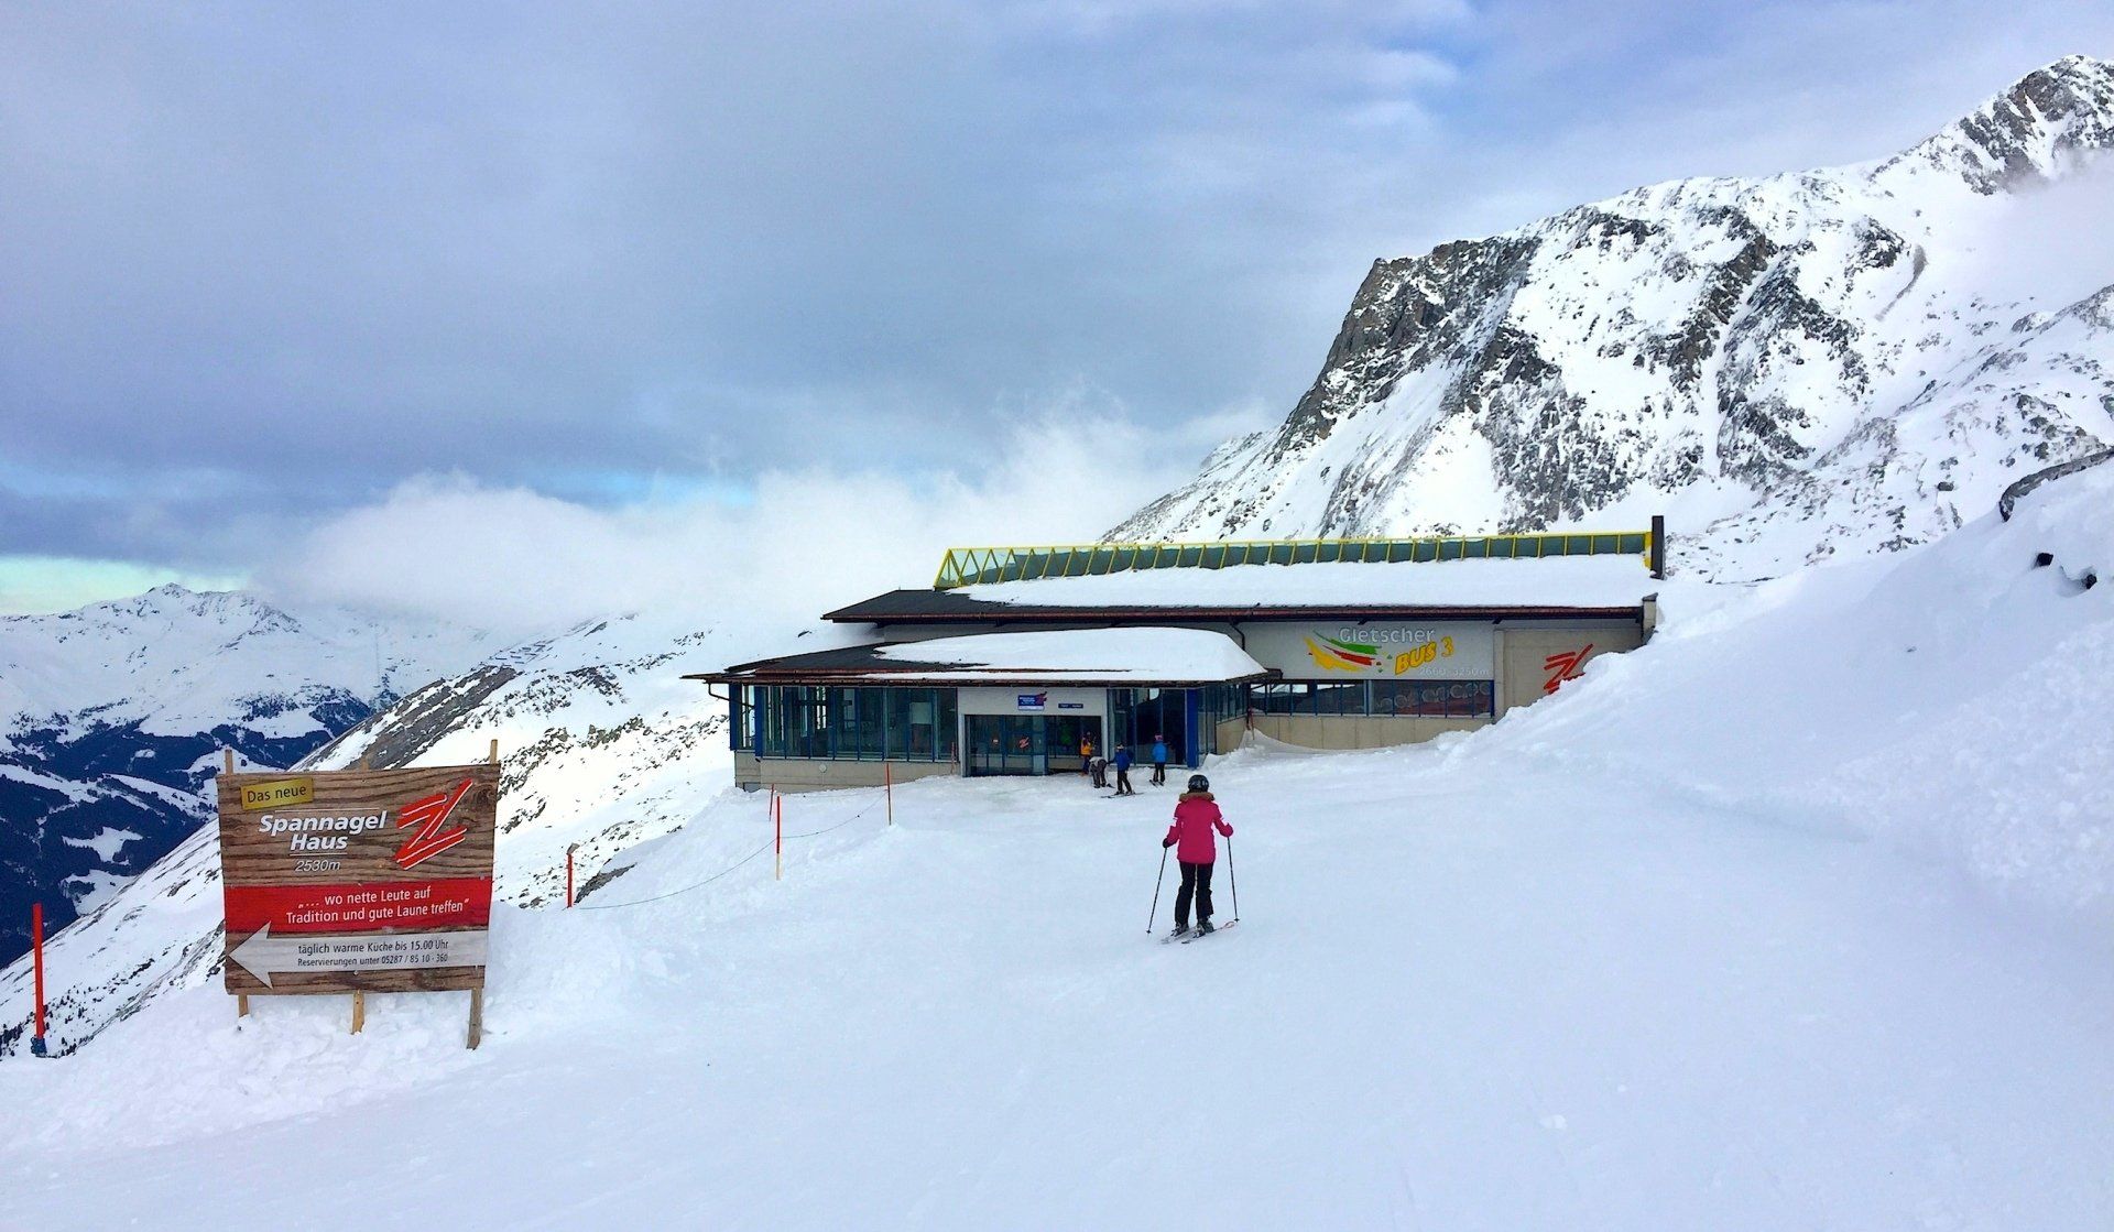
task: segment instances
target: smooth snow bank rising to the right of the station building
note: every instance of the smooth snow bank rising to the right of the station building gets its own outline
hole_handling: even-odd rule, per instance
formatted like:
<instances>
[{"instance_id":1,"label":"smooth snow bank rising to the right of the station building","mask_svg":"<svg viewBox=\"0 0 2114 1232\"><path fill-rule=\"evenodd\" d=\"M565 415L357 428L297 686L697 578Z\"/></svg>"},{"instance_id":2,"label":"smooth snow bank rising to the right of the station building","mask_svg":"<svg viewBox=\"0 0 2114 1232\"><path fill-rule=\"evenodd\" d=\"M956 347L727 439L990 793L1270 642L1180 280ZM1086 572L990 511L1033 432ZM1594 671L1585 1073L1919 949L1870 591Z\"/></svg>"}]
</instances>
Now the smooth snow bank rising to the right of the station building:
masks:
<instances>
[{"instance_id":1,"label":"smooth snow bank rising to the right of the station building","mask_svg":"<svg viewBox=\"0 0 2114 1232\"><path fill-rule=\"evenodd\" d=\"M2114 923L2114 471L1903 558L1674 583L1651 647L1476 752L1628 765L1791 826L1886 839ZM2040 552L2053 566L2036 566Z\"/></svg>"}]
</instances>

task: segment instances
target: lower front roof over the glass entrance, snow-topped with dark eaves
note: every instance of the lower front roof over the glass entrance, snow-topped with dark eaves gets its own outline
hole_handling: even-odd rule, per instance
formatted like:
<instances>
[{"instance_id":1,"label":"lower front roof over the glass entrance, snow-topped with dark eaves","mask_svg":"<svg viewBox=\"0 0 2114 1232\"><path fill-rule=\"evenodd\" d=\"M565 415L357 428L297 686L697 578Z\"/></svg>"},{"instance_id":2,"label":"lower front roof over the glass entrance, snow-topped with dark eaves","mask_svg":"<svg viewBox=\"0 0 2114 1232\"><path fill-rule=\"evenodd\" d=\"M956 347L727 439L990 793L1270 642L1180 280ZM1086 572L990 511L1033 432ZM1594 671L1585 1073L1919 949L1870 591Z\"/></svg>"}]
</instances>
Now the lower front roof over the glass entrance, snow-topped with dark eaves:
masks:
<instances>
[{"instance_id":1,"label":"lower front roof over the glass entrance, snow-topped with dark eaves","mask_svg":"<svg viewBox=\"0 0 2114 1232\"><path fill-rule=\"evenodd\" d=\"M877 642L736 664L715 685L1241 685L1271 672L1209 630L1120 628Z\"/></svg>"}]
</instances>

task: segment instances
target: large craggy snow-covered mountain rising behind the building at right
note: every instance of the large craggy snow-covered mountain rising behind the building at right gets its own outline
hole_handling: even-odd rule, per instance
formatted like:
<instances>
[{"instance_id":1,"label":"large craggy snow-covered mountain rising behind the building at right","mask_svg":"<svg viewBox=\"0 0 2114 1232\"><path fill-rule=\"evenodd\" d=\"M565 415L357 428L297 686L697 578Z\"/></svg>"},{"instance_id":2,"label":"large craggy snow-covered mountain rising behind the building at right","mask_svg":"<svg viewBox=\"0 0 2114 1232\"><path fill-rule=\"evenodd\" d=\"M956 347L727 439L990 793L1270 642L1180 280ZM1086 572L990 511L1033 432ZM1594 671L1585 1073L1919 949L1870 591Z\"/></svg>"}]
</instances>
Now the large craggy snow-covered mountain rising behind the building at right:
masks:
<instances>
[{"instance_id":1,"label":"large craggy snow-covered mountain rising behind the building at right","mask_svg":"<svg viewBox=\"0 0 2114 1232\"><path fill-rule=\"evenodd\" d=\"M1681 180L1374 262L1285 423L1110 539L1643 524L1780 575L2114 442L2114 66L1915 148Z\"/></svg>"}]
</instances>

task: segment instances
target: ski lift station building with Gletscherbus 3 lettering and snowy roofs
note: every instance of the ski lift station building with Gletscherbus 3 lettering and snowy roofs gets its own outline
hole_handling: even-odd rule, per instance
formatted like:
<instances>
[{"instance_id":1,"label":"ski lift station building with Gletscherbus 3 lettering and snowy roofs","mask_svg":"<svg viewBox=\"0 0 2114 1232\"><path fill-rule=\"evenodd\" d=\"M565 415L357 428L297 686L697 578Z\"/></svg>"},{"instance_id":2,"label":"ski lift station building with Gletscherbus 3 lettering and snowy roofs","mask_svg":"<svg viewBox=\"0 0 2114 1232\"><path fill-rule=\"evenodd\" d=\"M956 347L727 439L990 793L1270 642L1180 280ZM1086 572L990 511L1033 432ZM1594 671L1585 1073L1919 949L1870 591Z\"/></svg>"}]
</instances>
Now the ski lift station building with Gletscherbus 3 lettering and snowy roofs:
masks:
<instances>
[{"instance_id":1,"label":"ski lift station building with Gletscherbus 3 lettering and snowy roofs","mask_svg":"<svg viewBox=\"0 0 2114 1232\"><path fill-rule=\"evenodd\" d=\"M736 782L1078 773L1080 744L1199 765L1249 731L1414 744L1503 718L1657 623L1664 522L1264 543L975 547L827 613L827 649L725 687Z\"/></svg>"}]
</instances>

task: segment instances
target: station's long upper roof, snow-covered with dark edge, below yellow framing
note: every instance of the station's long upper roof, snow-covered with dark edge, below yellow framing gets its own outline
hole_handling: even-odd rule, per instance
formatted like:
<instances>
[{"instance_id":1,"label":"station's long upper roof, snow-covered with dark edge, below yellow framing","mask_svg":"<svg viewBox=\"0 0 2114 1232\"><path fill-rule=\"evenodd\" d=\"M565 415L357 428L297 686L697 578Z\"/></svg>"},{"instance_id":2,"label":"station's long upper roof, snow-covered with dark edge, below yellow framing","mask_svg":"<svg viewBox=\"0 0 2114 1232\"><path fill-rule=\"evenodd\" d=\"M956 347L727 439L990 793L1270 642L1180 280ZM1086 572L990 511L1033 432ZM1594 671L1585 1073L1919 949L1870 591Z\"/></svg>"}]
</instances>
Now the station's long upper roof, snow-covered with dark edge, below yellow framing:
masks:
<instances>
[{"instance_id":1,"label":"station's long upper roof, snow-covered with dark edge, below yellow framing","mask_svg":"<svg viewBox=\"0 0 2114 1232\"><path fill-rule=\"evenodd\" d=\"M846 623L1630 617L1657 590L1634 556L1292 564L894 590Z\"/></svg>"}]
</instances>

